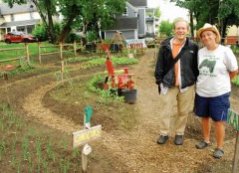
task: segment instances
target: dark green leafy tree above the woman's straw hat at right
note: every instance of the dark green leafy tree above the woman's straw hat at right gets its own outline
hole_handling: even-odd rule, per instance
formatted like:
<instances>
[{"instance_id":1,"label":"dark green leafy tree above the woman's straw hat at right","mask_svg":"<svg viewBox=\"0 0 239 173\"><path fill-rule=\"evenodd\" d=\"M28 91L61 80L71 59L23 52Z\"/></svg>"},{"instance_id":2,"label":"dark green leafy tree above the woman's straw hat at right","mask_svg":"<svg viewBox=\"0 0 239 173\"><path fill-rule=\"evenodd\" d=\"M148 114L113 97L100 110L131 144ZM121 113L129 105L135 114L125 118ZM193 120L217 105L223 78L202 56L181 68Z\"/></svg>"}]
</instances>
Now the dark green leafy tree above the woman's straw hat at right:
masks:
<instances>
[{"instance_id":1,"label":"dark green leafy tree above the woman's straw hat at right","mask_svg":"<svg viewBox=\"0 0 239 173\"><path fill-rule=\"evenodd\" d=\"M239 24L238 0L177 0L176 2L178 6L190 11L191 17L196 19L196 28L202 27L204 23L215 24L222 38L225 38L228 26Z\"/></svg>"}]
</instances>

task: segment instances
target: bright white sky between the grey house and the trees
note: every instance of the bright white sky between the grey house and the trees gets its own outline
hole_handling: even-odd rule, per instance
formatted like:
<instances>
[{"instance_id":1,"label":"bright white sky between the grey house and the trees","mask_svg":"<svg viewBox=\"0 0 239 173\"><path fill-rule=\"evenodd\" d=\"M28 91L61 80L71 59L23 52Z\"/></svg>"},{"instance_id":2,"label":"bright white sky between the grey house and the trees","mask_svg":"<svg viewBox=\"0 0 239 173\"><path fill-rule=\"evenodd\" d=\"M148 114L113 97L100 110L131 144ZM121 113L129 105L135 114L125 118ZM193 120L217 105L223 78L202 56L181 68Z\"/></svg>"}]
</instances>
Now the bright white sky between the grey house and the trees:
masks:
<instances>
[{"instance_id":1,"label":"bright white sky between the grey house and the trees","mask_svg":"<svg viewBox=\"0 0 239 173\"><path fill-rule=\"evenodd\" d=\"M169 20L172 22L177 17L183 17L184 19L189 20L186 9L180 8L176 6L175 3L169 1L170 0L148 0L148 7L160 8L160 20Z\"/></svg>"}]
</instances>

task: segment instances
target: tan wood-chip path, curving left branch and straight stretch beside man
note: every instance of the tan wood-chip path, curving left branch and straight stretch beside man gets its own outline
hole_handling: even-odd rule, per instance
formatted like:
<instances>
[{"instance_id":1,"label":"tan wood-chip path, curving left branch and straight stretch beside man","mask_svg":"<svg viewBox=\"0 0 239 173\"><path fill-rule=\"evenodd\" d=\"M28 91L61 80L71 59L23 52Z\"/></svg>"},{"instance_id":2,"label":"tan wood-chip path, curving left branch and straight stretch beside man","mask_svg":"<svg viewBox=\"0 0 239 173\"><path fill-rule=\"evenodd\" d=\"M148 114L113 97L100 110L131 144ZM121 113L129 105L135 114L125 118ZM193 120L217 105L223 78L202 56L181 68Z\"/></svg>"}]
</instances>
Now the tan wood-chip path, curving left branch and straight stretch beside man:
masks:
<instances>
[{"instance_id":1,"label":"tan wood-chip path, curving left branch and straight stretch beside man","mask_svg":"<svg viewBox=\"0 0 239 173\"><path fill-rule=\"evenodd\" d=\"M208 154L212 148L204 151L196 150L194 147L196 140L193 138L186 138L183 146L175 146L173 138L166 145L156 144L158 121L164 108L154 84L152 65L154 53L152 50L147 51L133 69L138 90L136 106L140 112L139 124L128 133L103 132L99 143L112 153L113 158L124 163L129 173L192 173L205 160L212 160ZM32 92L25 98L23 108L28 116L34 116L45 125L71 133L79 129L79 126L70 120L58 117L42 104L47 91L55 86L55 83L50 83ZM172 104L172 111L174 110L175 105ZM231 142L234 141L226 143ZM232 158L231 149L228 149L225 158ZM118 169L120 172L120 168Z\"/></svg>"}]
</instances>

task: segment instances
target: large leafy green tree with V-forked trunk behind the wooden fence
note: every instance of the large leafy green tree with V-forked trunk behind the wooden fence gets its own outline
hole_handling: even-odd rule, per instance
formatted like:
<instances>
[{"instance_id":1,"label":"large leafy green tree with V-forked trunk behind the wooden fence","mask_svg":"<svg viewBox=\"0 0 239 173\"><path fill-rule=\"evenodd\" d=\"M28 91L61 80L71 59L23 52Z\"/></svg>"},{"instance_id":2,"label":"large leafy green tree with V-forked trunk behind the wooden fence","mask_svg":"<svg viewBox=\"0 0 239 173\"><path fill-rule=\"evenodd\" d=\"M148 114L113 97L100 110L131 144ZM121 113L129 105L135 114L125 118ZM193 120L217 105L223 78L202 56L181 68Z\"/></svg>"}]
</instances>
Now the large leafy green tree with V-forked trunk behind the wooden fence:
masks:
<instances>
[{"instance_id":1,"label":"large leafy green tree with V-forked trunk behind the wooden fence","mask_svg":"<svg viewBox=\"0 0 239 173\"><path fill-rule=\"evenodd\" d=\"M104 29L112 25L115 17L125 10L126 0L4 0L13 6L14 3L32 2L38 9L41 19L47 28L49 37L55 41L53 16L63 15L62 30L58 41L64 41L75 27L83 32Z\"/></svg>"}]
</instances>

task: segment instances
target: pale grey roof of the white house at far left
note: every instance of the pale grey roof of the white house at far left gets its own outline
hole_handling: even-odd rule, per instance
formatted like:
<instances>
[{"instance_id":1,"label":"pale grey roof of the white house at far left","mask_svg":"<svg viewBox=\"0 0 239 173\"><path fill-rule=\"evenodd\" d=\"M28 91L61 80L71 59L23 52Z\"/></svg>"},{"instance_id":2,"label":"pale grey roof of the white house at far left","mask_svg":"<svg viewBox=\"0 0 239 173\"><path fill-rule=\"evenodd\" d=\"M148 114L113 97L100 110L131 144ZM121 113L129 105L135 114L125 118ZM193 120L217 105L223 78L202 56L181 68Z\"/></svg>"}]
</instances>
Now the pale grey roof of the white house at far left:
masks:
<instances>
[{"instance_id":1,"label":"pale grey roof of the white house at far left","mask_svg":"<svg viewBox=\"0 0 239 173\"><path fill-rule=\"evenodd\" d=\"M12 8L8 6L7 3L0 4L0 15L8 15L8 14L16 14L16 13L24 13L29 11L37 11L34 4L14 4Z\"/></svg>"}]
</instances>

